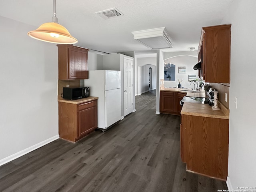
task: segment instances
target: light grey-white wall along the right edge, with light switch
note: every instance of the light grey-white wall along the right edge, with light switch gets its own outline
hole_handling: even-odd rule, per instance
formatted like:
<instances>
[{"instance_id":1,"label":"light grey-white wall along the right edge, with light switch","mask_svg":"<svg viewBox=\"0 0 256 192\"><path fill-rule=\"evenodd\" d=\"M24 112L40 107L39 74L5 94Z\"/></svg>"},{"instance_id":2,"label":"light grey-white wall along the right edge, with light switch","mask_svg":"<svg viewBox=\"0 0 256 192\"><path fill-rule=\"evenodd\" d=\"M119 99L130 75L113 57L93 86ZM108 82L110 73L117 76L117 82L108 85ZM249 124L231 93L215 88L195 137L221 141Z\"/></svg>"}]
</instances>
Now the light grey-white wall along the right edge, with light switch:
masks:
<instances>
[{"instance_id":1,"label":"light grey-white wall along the right edge, with light switch","mask_svg":"<svg viewBox=\"0 0 256 192\"><path fill-rule=\"evenodd\" d=\"M229 189L256 186L255 0L234 0L222 24L231 26ZM234 98L238 98L236 109Z\"/></svg>"}]
</instances>

